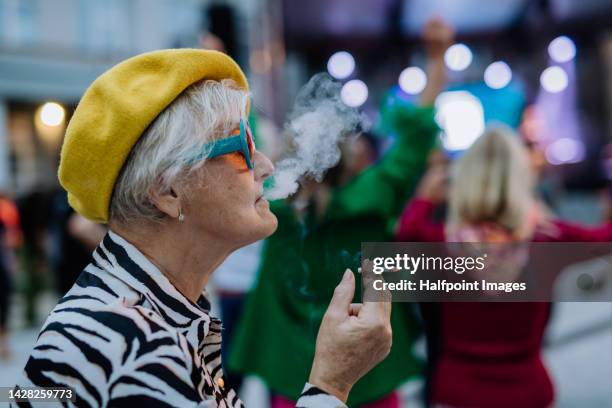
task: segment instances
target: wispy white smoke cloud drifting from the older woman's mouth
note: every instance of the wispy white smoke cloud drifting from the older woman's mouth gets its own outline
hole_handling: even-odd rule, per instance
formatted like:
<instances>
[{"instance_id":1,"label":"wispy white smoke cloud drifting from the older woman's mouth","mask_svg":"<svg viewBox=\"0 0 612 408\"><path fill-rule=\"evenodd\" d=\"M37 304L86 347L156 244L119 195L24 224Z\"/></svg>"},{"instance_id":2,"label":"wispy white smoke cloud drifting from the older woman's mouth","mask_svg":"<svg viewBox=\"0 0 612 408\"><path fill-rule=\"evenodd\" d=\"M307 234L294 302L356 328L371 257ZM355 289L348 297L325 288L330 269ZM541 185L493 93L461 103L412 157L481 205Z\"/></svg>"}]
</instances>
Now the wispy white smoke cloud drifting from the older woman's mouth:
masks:
<instances>
[{"instance_id":1,"label":"wispy white smoke cloud drifting from the older woman's mouth","mask_svg":"<svg viewBox=\"0 0 612 408\"><path fill-rule=\"evenodd\" d=\"M295 193L302 175L321 181L340 160L338 144L367 126L365 117L340 99L341 84L327 74L317 74L300 90L285 124L294 150L276 164L269 200Z\"/></svg>"}]
</instances>

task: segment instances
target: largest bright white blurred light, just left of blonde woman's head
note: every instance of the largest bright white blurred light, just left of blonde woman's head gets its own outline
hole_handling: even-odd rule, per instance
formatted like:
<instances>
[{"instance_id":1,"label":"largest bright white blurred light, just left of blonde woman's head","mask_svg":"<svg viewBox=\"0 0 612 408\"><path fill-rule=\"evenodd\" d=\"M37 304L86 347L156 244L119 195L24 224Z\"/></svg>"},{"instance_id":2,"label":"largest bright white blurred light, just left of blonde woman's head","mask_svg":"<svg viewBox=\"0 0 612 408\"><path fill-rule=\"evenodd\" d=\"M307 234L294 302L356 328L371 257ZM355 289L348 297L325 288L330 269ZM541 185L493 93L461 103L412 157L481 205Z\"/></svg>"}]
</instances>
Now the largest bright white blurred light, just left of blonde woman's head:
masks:
<instances>
[{"instance_id":1,"label":"largest bright white blurred light, just left of blonde woman's head","mask_svg":"<svg viewBox=\"0 0 612 408\"><path fill-rule=\"evenodd\" d=\"M484 132L482 103L467 91L443 92L436 99L436 110L447 150L465 150Z\"/></svg>"}]
</instances>

